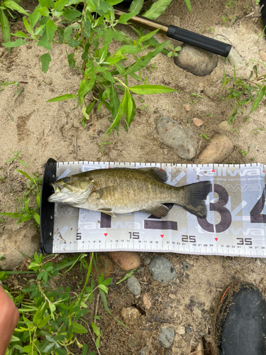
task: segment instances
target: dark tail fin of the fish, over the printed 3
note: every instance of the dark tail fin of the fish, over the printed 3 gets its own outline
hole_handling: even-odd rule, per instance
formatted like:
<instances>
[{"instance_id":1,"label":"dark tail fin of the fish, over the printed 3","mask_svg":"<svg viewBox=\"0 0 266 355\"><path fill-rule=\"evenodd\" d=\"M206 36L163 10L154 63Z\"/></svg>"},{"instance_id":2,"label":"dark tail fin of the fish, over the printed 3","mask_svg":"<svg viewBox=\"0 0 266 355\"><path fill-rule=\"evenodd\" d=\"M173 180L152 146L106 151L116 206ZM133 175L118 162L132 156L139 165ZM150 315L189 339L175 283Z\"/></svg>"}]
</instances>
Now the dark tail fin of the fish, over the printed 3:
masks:
<instances>
[{"instance_id":1,"label":"dark tail fin of the fish, over the printed 3","mask_svg":"<svg viewBox=\"0 0 266 355\"><path fill-rule=\"evenodd\" d=\"M211 191L210 181L195 182L194 184L183 186L184 203L182 207L199 218L207 217L206 200L207 195Z\"/></svg>"}]
</instances>

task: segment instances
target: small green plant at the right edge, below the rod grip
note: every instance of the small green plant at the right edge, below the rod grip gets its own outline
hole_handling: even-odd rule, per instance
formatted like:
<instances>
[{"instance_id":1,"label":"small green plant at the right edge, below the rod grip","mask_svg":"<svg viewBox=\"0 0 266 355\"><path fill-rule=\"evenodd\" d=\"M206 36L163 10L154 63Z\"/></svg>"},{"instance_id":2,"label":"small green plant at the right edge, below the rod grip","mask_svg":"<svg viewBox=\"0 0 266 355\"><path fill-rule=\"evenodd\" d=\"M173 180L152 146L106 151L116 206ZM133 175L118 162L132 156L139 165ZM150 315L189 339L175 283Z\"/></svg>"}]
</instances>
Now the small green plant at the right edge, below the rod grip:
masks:
<instances>
[{"instance_id":1,"label":"small green plant at the right edge, below the rod grip","mask_svg":"<svg viewBox=\"0 0 266 355\"><path fill-rule=\"evenodd\" d=\"M253 80L253 74L255 73L255 78ZM253 71L250 72L250 76L248 80L243 80L241 77L236 77L235 67L233 68L233 77L226 77L226 73L223 73L223 81L220 89L221 100L224 101L226 99L230 99L233 102L235 107L233 108L233 104L230 102L230 106L233 109L233 113L228 117L229 123L232 123L235 119L236 114L238 113L238 108L242 111L243 107L250 102L253 102L253 106L248 112L247 120L249 119L250 114L252 114L255 109L259 106L263 97L265 96L266 90L266 74L257 75L257 66L253 66ZM254 97L254 92L256 93L256 97Z\"/></svg>"}]
</instances>

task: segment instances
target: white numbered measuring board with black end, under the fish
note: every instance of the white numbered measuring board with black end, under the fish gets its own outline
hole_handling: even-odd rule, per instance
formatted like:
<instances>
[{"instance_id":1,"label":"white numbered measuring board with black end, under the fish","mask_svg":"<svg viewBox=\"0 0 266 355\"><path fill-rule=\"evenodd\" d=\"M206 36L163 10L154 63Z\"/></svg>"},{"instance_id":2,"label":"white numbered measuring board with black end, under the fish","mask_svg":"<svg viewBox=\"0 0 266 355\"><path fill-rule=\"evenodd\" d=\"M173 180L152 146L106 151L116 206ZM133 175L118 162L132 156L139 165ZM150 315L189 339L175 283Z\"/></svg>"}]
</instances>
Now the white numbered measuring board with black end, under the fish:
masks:
<instances>
[{"instance_id":1,"label":"white numbered measuring board with black end, under the fish","mask_svg":"<svg viewBox=\"0 0 266 355\"><path fill-rule=\"evenodd\" d=\"M167 204L167 217L147 212L116 214L47 202L50 182L92 169L157 167L167 184L211 182L208 214L199 219L177 204ZM156 163L72 162L48 160L40 213L41 251L157 251L266 257L265 165L185 165ZM138 192L141 194L141 191Z\"/></svg>"}]
</instances>

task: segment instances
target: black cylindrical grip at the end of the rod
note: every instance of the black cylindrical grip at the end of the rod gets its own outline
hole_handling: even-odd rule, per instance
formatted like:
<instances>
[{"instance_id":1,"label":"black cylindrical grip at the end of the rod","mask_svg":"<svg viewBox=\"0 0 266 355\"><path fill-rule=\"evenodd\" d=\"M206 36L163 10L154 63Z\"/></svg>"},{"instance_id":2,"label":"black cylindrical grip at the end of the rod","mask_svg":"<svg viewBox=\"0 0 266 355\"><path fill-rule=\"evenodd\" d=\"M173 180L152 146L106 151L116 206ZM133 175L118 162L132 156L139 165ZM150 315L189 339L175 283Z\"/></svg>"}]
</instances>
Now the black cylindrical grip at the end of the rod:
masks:
<instances>
[{"instance_id":1,"label":"black cylindrical grip at the end of the rod","mask_svg":"<svg viewBox=\"0 0 266 355\"><path fill-rule=\"evenodd\" d=\"M222 57L227 57L232 48L231 45L223 43L220 40L214 40L205 35L199 35L198 33L187 31L184 30L184 28L172 25L168 27L167 37L208 50L208 52L221 55Z\"/></svg>"}]
</instances>

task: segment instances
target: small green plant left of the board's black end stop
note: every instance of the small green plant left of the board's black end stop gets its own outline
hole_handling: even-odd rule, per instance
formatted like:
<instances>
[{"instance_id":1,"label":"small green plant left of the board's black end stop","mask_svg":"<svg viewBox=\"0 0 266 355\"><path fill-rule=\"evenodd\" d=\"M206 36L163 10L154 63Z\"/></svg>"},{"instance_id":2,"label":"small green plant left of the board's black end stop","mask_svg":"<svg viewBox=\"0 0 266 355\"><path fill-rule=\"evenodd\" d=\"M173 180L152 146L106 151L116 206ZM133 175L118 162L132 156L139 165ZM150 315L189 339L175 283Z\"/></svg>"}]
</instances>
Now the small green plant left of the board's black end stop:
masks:
<instances>
[{"instance_id":1,"label":"small green plant left of the board's black end stop","mask_svg":"<svg viewBox=\"0 0 266 355\"><path fill-rule=\"evenodd\" d=\"M33 174L33 177L31 177L23 170L16 171L24 175L29 180L26 187L26 191L21 197L21 205L18 207L18 209L16 207L16 212L1 212L0 216L7 216L14 219L18 218L16 224L26 222L29 219L34 218L35 222L38 224L38 226L40 226L40 186L42 179L38 178L38 176L36 176L35 174ZM36 204L33 204L33 206L30 205L31 197L28 197L29 195L35 196Z\"/></svg>"}]
</instances>

